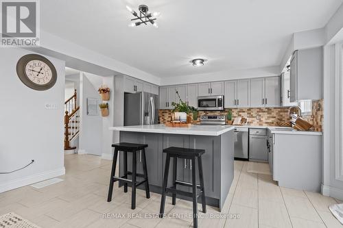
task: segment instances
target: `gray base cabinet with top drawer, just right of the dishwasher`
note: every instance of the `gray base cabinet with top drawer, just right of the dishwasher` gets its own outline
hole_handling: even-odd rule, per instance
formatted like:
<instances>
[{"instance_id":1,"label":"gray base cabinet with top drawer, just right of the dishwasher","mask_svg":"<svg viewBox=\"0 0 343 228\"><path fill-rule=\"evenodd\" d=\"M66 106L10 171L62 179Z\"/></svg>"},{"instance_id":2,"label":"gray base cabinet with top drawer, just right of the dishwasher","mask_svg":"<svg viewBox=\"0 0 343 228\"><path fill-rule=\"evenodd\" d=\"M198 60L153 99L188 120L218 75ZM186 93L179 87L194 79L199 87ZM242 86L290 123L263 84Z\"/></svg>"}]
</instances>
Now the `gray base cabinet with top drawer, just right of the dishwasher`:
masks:
<instances>
[{"instance_id":1,"label":"gray base cabinet with top drawer, just right of the dishwasher","mask_svg":"<svg viewBox=\"0 0 343 228\"><path fill-rule=\"evenodd\" d=\"M249 130L249 161L268 162L267 129Z\"/></svg>"}]
</instances>

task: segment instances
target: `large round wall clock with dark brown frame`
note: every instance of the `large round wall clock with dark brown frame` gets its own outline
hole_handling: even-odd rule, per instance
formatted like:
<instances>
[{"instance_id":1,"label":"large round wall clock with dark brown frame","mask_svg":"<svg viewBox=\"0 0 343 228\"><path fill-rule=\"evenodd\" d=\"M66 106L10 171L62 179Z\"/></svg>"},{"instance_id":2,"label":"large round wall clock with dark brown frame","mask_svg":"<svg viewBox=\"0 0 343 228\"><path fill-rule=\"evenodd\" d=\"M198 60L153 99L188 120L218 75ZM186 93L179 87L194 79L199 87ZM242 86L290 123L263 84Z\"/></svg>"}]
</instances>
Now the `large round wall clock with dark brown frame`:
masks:
<instances>
[{"instance_id":1,"label":"large round wall clock with dark brown frame","mask_svg":"<svg viewBox=\"0 0 343 228\"><path fill-rule=\"evenodd\" d=\"M54 64L42 55L24 55L16 64L19 79L34 90L48 90L57 80Z\"/></svg>"}]
</instances>

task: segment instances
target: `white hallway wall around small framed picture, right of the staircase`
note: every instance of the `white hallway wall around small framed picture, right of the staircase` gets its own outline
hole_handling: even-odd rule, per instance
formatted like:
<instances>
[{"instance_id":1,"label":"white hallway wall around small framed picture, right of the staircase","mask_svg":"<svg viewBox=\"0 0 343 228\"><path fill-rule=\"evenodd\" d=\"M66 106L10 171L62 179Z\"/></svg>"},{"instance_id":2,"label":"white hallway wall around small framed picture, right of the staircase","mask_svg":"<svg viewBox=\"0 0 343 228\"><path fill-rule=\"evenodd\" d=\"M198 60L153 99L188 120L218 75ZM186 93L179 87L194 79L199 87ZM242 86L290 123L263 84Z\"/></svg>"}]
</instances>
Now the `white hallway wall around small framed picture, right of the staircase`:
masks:
<instances>
[{"instance_id":1,"label":"white hallway wall around small framed picture, right of the staircase","mask_svg":"<svg viewBox=\"0 0 343 228\"><path fill-rule=\"evenodd\" d=\"M93 75L93 77L98 77ZM80 121L78 153L102 155L102 116L87 115L87 98L101 99L85 73L80 73Z\"/></svg>"}]
</instances>

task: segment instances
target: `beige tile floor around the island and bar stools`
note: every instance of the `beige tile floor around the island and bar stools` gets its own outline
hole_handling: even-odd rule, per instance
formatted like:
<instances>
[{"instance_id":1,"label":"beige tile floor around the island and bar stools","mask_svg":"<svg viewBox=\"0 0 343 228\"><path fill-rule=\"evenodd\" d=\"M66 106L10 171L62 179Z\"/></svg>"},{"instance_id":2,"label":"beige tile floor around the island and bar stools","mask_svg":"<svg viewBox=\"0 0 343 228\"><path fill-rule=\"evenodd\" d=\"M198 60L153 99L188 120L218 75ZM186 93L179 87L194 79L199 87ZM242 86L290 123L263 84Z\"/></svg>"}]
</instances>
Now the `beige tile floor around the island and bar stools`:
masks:
<instances>
[{"instance_id":1,"label":"beige tile floor around the island and bar stools","mask_svg":"<svg viewBox=\"0 0 343 228\"><path fill-rule=\"evenodd\" d=\"M161 200L155 193L145 199L145 192L138 190L137 208L131 210L130 192L125 194L115 186L113 201L107 203L108 160L93 155L66 155L65 166L67 173L60 177L64 179L60 183L1 193L0 215L15 212L43 228L192 227L191 218L173 217L191 213L189 201L178 200L173 206L167 198L167 218L163 219L154 218ZM207 207L206 216L212 218L204 218L200 212L200 227L343 227L327 208L340 201L316 192L279 188L270 175L260 173L268 173L268 164L235 161L235 178L224 210L220 213ZM104 218L104 214L108 217Z\"/></svg>"}]
</instances>

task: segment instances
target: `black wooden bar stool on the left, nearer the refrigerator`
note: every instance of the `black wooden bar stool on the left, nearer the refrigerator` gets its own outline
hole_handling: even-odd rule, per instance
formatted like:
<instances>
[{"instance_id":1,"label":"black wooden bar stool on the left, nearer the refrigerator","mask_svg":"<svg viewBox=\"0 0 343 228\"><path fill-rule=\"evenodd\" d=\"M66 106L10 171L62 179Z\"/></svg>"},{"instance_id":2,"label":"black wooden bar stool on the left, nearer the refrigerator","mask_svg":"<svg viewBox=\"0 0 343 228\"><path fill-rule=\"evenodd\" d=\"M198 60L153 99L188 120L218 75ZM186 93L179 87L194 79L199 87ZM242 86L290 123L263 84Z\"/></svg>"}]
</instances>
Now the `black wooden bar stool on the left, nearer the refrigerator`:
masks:
<instances>
[{"instance_id":1,"label":"black wooden bar stool on the left, nearer the refrigerator","mask_svg":"<svg viewBox=\"0 0 343 228\"><path fill-rule=\"evenodd\" d=\"M113 184L115 181L124 182L124 192L128 192L128 183L132 188L131 208L136 208L136 188L142 183L145 183L145 194L147 199L150 198L149 181L147 180L147 162L145 159L145 148L147 144L135 144L129 142L120 142L113 144L115 153L113 154L112 171L110 174L110 188L108 190L107 201L112 201ZM117 166L118 151L123 151L123 168L124 173L121 177L115 177L115 168ZM143 158L143 174L137 173L137 153L141 151ZM132 153L132 172L128 172L128 152ZM128 179L128 175L132 175L132 179ZM143 177L143 181L137 183L136 177Z\"/></svg>"}]
</instances>

